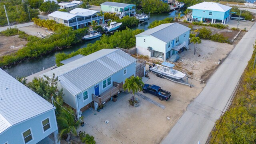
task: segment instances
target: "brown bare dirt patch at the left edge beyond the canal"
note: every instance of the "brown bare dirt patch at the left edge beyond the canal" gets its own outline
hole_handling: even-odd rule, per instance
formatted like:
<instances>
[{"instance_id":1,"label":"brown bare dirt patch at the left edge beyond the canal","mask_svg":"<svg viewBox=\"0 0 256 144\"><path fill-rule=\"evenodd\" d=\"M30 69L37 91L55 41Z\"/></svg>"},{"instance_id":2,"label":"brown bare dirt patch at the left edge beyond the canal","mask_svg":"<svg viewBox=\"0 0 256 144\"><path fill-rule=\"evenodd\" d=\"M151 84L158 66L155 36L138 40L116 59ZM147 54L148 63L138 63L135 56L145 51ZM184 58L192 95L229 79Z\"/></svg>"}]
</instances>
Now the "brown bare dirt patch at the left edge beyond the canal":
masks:
<instances>
[{"instance_id":1,"label":"brown bare dirt patch at the left edge beyond the canal","mask_svg":"<svg viewBox=\"0 0 256 144\"><path fill-rule=\"evenodd\" d=\"M8 55L23 48L28 43L25 39L15 36L0 36L0 56Z\"/></svg>"}]
</instances>

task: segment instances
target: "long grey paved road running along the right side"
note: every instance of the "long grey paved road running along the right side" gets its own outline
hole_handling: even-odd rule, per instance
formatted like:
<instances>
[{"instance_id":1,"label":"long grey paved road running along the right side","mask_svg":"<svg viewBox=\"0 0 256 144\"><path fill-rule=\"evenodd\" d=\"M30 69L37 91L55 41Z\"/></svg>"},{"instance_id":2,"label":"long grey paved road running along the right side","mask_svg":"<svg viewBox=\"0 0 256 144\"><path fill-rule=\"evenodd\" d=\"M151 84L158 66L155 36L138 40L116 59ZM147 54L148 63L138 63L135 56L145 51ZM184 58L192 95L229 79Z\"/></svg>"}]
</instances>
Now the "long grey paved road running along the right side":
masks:
<instances>
[{"instance_id":1,"label":"long grey paved road running along the right side","mask_svg":"<svg viewBox=\"0 0 256 144\"><path fill-rule=\"evenodd\" d=\"M222 114L252 56L255 39L256 24L214 72L198 97L188 105L162 144L206 143L214 122Z\"/></svg>"}]
</instances>

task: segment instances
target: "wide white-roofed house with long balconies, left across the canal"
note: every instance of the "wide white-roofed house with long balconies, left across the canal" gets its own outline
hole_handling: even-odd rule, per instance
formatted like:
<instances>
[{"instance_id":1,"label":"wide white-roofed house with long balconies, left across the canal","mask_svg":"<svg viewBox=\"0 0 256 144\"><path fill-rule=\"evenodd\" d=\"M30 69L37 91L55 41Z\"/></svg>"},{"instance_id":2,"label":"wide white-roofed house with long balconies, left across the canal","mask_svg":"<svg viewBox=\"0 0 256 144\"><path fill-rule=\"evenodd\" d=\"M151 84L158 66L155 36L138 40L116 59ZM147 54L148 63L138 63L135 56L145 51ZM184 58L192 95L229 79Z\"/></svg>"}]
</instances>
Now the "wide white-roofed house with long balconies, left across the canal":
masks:
<instances>
[{"instance_id":1,"label":"wide white-roofed house with long balconies, left across the canal","mask_svg":"<svg viewBox=\"0 0 256 144\"><path fill-rule=\"evenodd\" d=\"M55 20L57 23L72 27L74 30L84 28L90 22L104 20L104 16L98 16L99 11L88 10L84 8L75 8L68 12L55 11L48 14L49 20ZM104 23L104 21L103 21Z\"/></svg>"}]
</instances>

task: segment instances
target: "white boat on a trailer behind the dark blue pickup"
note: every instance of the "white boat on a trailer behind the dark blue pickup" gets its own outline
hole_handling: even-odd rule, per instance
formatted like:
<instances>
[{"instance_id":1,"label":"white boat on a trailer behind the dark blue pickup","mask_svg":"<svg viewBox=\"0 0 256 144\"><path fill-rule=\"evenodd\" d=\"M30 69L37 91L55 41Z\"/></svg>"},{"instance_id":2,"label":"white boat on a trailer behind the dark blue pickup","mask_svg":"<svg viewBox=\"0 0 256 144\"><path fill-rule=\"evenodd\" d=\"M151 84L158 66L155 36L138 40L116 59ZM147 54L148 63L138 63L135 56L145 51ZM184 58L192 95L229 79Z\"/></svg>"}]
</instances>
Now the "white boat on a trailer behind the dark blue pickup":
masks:
<instances>
[{"instance_id":1,"label":"white boat on a trailer behind the dark blue pickup","mask_svg":"<svg viewBox=\"0 0 256 144\"><path fill-rule=\"evenodd\" d=\"M149 66L149 70L154 72L158 77L167 77L172 80L180 80L186 76L186 74L174 70L174 64L170 64L168 62L163 62L162 65L153 64L153 66Z\"/></svg>"}]
</instances>

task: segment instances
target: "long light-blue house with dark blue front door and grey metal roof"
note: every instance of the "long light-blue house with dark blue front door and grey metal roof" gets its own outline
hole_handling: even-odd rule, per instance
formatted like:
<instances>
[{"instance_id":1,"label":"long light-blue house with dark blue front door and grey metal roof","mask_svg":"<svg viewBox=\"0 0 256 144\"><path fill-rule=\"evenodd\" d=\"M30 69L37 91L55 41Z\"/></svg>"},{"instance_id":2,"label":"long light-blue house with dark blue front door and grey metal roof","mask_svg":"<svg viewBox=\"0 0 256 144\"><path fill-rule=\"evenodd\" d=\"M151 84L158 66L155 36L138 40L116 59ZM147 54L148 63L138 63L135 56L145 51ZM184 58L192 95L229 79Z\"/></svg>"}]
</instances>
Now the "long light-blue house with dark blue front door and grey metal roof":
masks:
<instances>
[{"instance_id":1,"label":"long light-blue house with dark blue front door and grey metal roof","mask_svg":"<svg viewBox=\"0 0 256 144\"><path fill-rule=\"evenodd\" d=\"M135 76L135 72L135 58L120 49L102 49L43 75L58 76L64 102L76 109L80 117L88 107L96 109L119 93L118 84Z\"/></svg>"}]
</instances>

